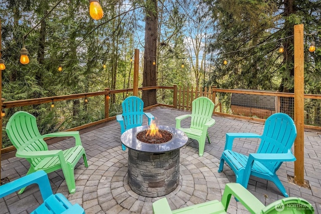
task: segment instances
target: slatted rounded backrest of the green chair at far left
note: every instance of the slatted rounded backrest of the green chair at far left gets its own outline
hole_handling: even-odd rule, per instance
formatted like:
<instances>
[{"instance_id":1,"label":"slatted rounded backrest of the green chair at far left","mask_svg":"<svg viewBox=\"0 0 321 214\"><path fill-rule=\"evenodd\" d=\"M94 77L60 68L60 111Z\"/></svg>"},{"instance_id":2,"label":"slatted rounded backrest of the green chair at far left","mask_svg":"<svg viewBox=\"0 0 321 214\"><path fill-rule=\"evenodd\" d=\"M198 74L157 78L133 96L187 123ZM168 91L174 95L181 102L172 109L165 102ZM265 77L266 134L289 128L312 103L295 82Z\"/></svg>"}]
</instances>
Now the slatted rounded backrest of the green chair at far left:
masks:
<instances>
[{"instance_id":1,"label":"slatted rounded backrest of the green chair at far left","mask_svg":"<svg viewBox=\"0 0 321 214\"><path fill-rule=\"evenodd\" d=\"M8 121L6 131L17 151L46 151L48 145L43 139L37 139L41 134L37 127L36 117L25 111L16 112ZM34 166L43 158L32 158L28 161Z\"/></svg>"}]
</instances>

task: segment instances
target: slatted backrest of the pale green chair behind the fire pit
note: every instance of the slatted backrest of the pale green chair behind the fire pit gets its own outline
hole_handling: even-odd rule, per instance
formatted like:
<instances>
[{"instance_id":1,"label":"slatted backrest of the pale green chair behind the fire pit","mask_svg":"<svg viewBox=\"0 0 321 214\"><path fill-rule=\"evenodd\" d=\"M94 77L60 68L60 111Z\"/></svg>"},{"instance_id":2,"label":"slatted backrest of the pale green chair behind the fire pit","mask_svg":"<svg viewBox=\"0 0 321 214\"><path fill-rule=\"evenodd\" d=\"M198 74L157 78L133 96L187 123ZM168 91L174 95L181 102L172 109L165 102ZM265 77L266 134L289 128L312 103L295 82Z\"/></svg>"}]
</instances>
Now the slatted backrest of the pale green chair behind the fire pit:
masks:
<instances>
[{"instance_id":1,"label":"slatted backrest of the pale green chair behind the fire pit","mask_svg":"<svg viewBox=\"0 0 321 214\"><path fill-rule=\"evenodd\" d=\"M207 97L199 97L192 102L191 128L203 129L204 124L212 118L214 103Z\"/></svg>"}]
</instances>

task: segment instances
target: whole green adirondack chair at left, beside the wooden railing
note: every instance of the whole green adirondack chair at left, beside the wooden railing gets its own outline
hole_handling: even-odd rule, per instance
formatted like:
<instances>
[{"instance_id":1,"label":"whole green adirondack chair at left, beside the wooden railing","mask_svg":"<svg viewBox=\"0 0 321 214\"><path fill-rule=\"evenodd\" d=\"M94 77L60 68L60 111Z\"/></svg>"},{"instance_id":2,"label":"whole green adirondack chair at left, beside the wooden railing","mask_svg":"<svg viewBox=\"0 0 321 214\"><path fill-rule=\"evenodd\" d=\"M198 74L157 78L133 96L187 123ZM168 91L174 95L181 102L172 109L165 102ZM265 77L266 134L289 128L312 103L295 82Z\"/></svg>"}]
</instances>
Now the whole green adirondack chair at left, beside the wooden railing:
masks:
<instances>
[{"instance_id":1,"label":"whole green adirondack chair at left, beside the wooden railing","mask_svg":"<svg viewBox=\"0 0 321 214\"><path fill-rule=\"evenodd\" d=\"M26 158L30 163L27 174L38 170L49 173L62 169L70 193L76 191L74 167L81 157L88 167L85 149L81 144L78 131L56 132L41 135L36 117L25 111L16 112L8 121L6 131L16 147L17 157ZM74 137L76 145L66 150L48 150L46 137ZM23 193L25 187L19 191Z\"/></svg>"}]
</instances>

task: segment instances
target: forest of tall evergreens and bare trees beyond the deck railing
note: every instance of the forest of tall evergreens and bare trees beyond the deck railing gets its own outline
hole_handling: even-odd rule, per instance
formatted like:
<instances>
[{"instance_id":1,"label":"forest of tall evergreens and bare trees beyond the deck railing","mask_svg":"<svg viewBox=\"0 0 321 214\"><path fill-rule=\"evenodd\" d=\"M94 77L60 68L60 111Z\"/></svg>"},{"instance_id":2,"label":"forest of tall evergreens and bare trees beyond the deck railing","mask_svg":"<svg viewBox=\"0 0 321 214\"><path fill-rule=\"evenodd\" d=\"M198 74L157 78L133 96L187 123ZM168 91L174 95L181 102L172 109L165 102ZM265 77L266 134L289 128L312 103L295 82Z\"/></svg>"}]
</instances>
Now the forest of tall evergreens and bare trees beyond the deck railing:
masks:
<instances>
[{"instance_id":1,"label":"forest of tall evergreens and bare trees beyond the deck railing","mask_svg":"<svg viewBox=\"0 0 321 214\"><path fill-rule=\"evenodd\" d=\"M0 0L0 5L6 101L132 88L135 49L140 50L139 86L293 92L297 24L304 24L305 93L321 94L318 0L101 0L104 17L98 21L90 18L87 0ZM312 41L316 50L310 53ZM19 62L24 45L28 65ZM143 100L153 104L158 97L162 94ZM42 133L54 132L103 118L103 101L90 102L30 111L42 120ZM111 114L121 112L121 100L111 102ZM68 108L70 116L64 114ZM320 103L311 108L319 111Z\"/></svg>"}]
</instances>

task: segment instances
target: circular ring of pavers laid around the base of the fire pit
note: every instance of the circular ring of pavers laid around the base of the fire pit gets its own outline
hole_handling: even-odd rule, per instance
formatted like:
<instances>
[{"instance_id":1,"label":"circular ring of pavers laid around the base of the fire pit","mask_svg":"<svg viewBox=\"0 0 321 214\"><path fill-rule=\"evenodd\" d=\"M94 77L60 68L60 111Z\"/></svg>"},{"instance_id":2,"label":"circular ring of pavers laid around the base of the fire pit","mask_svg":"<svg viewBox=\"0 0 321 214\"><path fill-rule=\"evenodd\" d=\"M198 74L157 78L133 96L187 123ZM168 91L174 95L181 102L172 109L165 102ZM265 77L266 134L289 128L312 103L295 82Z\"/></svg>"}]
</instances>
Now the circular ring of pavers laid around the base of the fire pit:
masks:
<instances>
[{"instance_id":1,"label":"circular ring of pavers laid around the base of the fire pit","mask_svg":"<svg viewBox=\"0 0 321 214\"><path fill-rule=\"evenodd\" d=\"M228 178L217 172L219 159L183 146L180 150L180 180L178 187L165 195L171 207L180 208L221 199ZM86 213L152 213L152 202L162 197L138 195L128 185L127 150L115 147L88 160L89 167L75 169L75 194L72 203L79 203ZM86 180L87 179L87 180Z\"/></svg>"}]
</instances>

